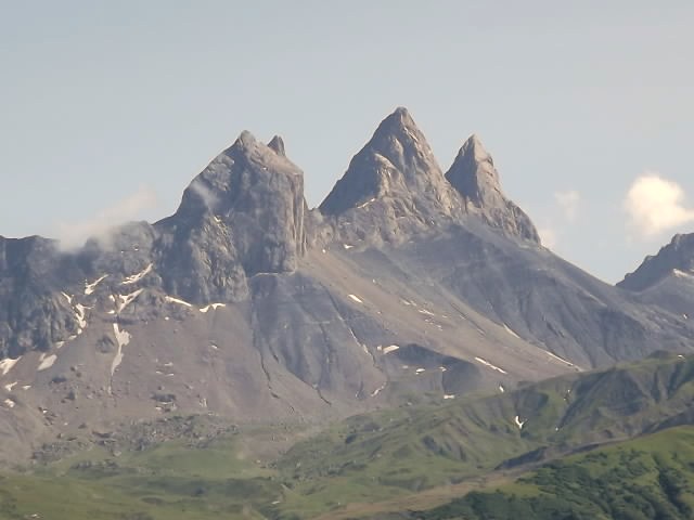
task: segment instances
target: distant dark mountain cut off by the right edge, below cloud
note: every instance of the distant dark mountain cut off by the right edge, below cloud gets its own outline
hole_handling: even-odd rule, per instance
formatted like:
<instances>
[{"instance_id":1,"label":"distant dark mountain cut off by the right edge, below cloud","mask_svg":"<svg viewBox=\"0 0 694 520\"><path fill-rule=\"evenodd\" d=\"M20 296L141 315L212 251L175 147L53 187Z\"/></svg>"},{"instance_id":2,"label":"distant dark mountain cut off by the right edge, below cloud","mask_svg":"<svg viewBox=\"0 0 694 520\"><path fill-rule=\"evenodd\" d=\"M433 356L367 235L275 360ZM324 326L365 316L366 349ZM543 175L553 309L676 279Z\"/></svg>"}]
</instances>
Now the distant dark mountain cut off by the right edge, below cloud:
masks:
<instances>
[{"instance_id":1,"label":"distant dark mountain cut off by the right edge, below cloud","mask_svg":"<svg viewBox=\"0 0 694 520\"><path fill-rule=\"evenodd\" d=\"M694 234L676 235L617 286L684 320L694 316Z\"/></svg>"}]
</instances>

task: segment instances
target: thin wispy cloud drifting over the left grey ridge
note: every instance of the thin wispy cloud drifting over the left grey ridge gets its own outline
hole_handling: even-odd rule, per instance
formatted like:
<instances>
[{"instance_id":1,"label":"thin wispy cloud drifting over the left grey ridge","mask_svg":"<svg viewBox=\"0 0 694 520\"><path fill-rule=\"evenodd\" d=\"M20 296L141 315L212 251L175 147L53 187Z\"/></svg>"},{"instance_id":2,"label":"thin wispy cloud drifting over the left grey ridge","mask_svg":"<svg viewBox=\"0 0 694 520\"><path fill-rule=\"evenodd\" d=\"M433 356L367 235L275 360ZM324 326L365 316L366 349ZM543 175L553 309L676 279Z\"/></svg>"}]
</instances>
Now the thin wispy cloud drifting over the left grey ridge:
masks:
<instances>
[{"instance_id":1,"label":"thin wispy cloud drifting over the left grey ridge","mask_svg":"<svg viewBox=\"0 0 694 520\"><path fill-rule=\"evenodd\" d=\"M63 249L76 249L91 237L107 239L108 233L114 226L141 219L142 212L153 206L156 206L154 190L149 186L140 186L133 194L102 209L88 220L59 222L53 234L60 240Z\"/></svg>"}]
</instances>

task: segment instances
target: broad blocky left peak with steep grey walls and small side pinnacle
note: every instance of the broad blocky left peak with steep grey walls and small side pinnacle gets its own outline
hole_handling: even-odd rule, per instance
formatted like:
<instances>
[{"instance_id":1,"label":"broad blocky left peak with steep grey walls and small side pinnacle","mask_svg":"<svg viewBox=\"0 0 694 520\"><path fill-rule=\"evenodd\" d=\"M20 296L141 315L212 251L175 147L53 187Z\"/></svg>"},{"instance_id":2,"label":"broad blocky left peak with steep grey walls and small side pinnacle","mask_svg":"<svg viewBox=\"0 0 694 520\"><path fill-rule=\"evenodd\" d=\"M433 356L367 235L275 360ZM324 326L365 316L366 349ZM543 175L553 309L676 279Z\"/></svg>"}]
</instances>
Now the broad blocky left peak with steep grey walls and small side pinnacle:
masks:
<instances>
[{"instance_id":1,"label":"broad blocky left peak with steep grey walls and small side pinnacle","mask_svg":"<svg viewBox=\"0 0 694 520\"><path fill-rule=\"evenodd\" d=\"M167 290L191 301L247 295L246 277L296 269L306 251L304 173L244 131L185 188L162 233ZM195 276L185 273L195 273ZM180 274L180 276L178 276Z\"/></svg>"}]
</instances>

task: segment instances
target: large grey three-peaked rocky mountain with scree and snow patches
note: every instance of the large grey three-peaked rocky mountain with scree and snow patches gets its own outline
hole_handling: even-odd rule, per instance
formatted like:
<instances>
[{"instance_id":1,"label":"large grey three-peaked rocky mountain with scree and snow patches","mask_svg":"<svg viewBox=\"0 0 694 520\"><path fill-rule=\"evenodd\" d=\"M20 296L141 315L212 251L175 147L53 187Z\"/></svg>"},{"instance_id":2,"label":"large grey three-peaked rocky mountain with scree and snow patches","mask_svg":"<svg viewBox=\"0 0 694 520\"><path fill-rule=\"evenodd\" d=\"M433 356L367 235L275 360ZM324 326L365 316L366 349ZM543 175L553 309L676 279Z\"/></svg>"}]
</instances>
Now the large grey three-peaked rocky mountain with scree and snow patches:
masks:
<instances>
[{"instance_id":1,"label":"large grey three-peaked rocky mountain with scree and snow patches","mask_svg":"<svg viewBox=\"0 0 694 520\"><path fill-rule=\"evenodd\" d=\"M444 174L398 108L313 210L290 155L243 132L158 222L77 251L0 238L3 460L128 421L324 424L694 350L686 320L542 247L477 138Z\"/></svg>"}]
</instances>

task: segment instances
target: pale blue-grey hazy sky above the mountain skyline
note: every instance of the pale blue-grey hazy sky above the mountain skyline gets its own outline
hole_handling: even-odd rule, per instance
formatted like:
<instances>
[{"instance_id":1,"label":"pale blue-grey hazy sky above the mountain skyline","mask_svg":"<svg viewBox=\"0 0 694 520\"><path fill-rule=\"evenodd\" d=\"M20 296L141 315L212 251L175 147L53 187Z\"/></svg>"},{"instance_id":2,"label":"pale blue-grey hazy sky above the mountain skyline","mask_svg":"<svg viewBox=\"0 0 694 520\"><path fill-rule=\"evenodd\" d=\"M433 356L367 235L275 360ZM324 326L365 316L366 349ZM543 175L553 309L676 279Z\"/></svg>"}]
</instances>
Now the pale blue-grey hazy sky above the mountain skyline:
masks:
<instances>
[{"instance_id":1,"label":"pale blue-grey hazy sky above the mountain skyline","mask_svg":"<svg viewBox=\"0 0 694 520\"><path fill-rule=\"evenodd\" d=\"M658 3L0 0L0 235L158 220L244 129L313 207L402 105L617 282L694 232L694 3Z\"/></svg>"}]
</instances>

